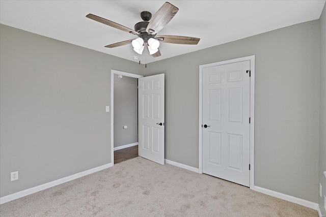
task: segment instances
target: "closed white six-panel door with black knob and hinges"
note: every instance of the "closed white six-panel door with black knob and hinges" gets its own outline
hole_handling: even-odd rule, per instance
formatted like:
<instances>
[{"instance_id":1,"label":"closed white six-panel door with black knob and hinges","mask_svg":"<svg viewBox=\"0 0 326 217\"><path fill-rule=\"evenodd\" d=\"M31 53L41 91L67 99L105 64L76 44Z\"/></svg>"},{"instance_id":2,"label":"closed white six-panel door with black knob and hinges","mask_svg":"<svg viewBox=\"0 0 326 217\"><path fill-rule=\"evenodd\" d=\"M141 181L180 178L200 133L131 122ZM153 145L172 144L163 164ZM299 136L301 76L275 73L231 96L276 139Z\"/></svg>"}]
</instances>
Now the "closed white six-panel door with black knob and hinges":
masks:
<instances>
[{"instance_id":1,"label":"closed white six-panel door with black knob and hinges","mask_svg":"<svg viewBox=\"0 0 326 217\"><path fill-rule=\"evenodd\" d=\"M250 61L202 69L203 173L250 185Z\"/></svg>"}]
</instances>

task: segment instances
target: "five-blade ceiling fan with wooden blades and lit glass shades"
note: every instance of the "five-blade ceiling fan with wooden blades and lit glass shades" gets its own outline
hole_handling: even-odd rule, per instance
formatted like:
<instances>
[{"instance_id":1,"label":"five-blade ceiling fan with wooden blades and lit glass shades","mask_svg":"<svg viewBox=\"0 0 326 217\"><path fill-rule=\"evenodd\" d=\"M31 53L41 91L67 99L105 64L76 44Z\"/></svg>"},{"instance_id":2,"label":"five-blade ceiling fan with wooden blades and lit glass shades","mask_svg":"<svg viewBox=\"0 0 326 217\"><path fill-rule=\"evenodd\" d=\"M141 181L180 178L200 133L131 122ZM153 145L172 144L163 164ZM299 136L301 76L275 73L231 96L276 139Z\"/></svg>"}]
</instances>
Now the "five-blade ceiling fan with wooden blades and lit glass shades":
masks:
<instances>
[{"instance_id":1,"label":"five-blade ceiling fan with wooden blades and lit glass shades","mask_svg":"<svg viewBox=\"0 0 326 217\"><path fill-rule=\"evenodd\" d=\"M162 5L162 7L160 7L160 9L158 9L153 18L150 12L143 11L141 13L141 18L144 21L136 23L134 25L134 30L94 14L88 14L86 17L139 37L137 39L130 39L110 44L105 47L114 48L131 43L135 52L142 54L144 47L146 46L149 53L153 57L157 57L161 55L160 51L158 50L159 42L196 45L200 40L199 38L187 36L156 36L157 32L159 32L159 30L164 28L164 26L170 22L178 10L179 9L177 7L166 2Z\"/></svg>"}]
</instances>

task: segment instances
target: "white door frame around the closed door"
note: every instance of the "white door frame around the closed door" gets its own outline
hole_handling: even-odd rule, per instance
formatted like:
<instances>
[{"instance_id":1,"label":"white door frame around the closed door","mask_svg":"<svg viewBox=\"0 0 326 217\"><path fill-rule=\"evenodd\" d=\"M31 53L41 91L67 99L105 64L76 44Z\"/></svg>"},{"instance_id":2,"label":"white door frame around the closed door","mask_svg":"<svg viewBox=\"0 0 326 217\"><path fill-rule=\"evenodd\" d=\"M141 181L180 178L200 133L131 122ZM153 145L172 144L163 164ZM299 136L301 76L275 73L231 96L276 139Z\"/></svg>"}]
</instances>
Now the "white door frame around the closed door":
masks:
<instances>
[{"instance_id":1,"label":"white door frame around the closed door","mask_svg":"<svg viewBox=\"0 0 326 217\"><path fill-rule=\"evenodd\" d=\"M217 63L211 63L211 64L205 64L199 66L199 124L198 124L198 131L199 131L199 173L203 173L203 68L206 67L212 67L212 66L220 66L225 64L232 64L237 63L240 61L246 61L250 60L250 189L254 190L255 186L255 175L254 175L254 169L255 169L255 161L254 161L254 154L255 154L255 148L254 148L254 123L255 123L255 117L254 117L254 109L255 109L255 55L251 56L245 56L235 59L229 59L225 61L220 61Z\"/></svg>"}]
</instances>

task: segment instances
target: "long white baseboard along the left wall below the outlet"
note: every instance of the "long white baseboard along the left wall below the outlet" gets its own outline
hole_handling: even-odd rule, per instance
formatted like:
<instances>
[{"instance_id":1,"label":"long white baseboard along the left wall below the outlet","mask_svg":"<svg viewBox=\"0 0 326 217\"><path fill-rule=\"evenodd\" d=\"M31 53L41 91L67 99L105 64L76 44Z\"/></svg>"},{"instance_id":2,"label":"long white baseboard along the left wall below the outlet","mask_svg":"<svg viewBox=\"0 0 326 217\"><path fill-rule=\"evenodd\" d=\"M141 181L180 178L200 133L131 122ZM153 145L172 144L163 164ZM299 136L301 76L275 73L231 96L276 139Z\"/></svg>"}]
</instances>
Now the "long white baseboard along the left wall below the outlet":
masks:
<instances>
[{"instance_id":1,"label":"long white baseboard along the left wall below the outlet","mask_svg":"<svg viewBox=\"0 0 326 217\"><path fill-rule=\"evenodd\" d=\"M59 185L59 184L74 180L76 178L80 178L80 177L89 175L91 173L98 172L100 170L104 170L104 169L112 167L112 166L113 166L112 163L105 164L105 165L102 165L102 166L99 166L99 167L95 167L93 169L89 169L89 170L86 170L86 171L83 171L83 172L79 172L79 173L76 173L76 174L73 174L73 175L70 175L70 176L67 176L67 177L63 177L63 178L60 178L60 179L57 179L57 180L54 180L54 181L50 181L50 182L38 185L38 186L30 188L30 189L26 189L26 190L23 190L23 191L20 191L20 192L16 192L14 194L10 194L10 195L4 196L4 197L0 197L0 204L7 203L9 201L16 200L18 198L21 198L21 197L24 197L24 196L27 196L27 195L30 195L30 194L34 194L36 192L39 192L39 191L42 191L42 190L45 190L45 189L48 189L48 188L51 188L51 187L55 187L56 185Z\"/></svg>"}]
</instances>

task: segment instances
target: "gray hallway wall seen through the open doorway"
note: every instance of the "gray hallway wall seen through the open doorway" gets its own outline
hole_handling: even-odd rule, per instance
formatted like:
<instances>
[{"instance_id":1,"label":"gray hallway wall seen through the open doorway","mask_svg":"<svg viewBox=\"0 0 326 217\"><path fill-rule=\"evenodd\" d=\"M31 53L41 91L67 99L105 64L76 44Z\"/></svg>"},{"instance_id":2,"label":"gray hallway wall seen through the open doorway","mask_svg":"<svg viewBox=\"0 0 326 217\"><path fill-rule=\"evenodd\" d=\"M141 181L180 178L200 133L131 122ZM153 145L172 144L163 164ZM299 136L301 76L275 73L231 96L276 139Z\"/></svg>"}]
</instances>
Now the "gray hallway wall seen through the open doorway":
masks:
<instances>
[{"instance_id":1,"label":"gray hallway wall seen through the open doorway","mask_svg":"<svg viewBox=\"0 0 326 217\"><path fill-rule=\"evenodd\" d=\"M137 86L137 78L114 75L114 147L138 142Z\"/></svg>"}]
</instances>

